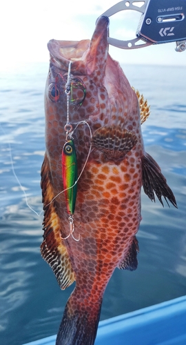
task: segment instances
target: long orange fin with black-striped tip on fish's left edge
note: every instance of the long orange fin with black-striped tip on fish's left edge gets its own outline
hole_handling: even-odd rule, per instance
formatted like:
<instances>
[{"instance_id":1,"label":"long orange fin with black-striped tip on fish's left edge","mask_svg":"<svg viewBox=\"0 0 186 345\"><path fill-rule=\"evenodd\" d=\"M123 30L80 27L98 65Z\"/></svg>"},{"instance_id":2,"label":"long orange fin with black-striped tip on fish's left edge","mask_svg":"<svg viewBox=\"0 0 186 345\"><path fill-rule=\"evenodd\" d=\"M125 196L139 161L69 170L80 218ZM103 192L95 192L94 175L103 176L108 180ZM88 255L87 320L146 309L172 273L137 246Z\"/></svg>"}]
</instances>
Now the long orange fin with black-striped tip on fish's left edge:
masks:
<instances>
[{"instance_id":1,"label":"long orange fin with black-striped tip on fish's left edge","mask_svg":"<svg viewBox=\"0 0 186 345\"><path fill-rule=\"evenodd\" d=\"M54 198L54 192L50 177L50 166L46 154L41 168L41 188L44 209L44 234L41 244L41 255L52 268L59 286L64 290L74 282L76 277L71 266L65 242L60 236L61 225L54 207L55 200L50 204L50 201Z\"/></svg>"}]
</instances>

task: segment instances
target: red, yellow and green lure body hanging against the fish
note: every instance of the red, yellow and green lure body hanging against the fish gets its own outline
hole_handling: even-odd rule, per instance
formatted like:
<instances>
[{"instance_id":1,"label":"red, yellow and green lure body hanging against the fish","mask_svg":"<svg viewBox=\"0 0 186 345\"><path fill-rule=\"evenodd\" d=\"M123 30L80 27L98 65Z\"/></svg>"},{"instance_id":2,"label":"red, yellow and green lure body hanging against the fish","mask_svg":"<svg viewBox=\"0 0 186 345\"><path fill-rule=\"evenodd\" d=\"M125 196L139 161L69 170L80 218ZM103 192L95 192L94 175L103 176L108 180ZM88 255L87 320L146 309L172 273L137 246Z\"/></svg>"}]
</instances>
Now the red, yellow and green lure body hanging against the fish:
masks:
<instances>
[{"instance_id":1,"label":"red, yellow and green lure body hanging against the fish","mask_svg":"<svg viewBox=\"0 0 186 345\"><path fill-rule=\"evenodd\" d=\"M76 150L73 140L68 140L63 146L61 163L66 205L69 215L73 215L77 193L77 184L75 182L78 179Z\"/></svg>"}]
</instances>

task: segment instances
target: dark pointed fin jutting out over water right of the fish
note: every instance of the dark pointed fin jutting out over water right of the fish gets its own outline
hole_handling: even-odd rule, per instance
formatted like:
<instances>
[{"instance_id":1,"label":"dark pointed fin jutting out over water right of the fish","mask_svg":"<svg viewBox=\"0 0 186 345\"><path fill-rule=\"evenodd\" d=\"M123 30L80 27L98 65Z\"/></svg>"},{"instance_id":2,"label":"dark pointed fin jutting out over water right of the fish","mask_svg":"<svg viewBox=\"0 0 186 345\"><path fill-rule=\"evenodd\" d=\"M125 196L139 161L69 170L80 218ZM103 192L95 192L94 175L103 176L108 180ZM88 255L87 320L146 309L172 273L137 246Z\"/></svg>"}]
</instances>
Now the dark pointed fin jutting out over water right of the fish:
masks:
<instances>
[{"instance_id":1,"label":"dark pointed fin jutting out over water right of the fish","mask_svg":"<svg viewBox=\"0 0 186 345\"><path fill-rule=\"evenodd\" d=\"M163 201L161 197L164 197L166 201L169 199L169 201L177 208L174 194L167 185L167 180L161 173L161 168L158 166L156 161L154 161L148 153L145 153L141 158L141 161L143 167L143 189L145 194L147 194L149 199L155 201L155 192L162 205Z\"/></svg>"}]
</instances>

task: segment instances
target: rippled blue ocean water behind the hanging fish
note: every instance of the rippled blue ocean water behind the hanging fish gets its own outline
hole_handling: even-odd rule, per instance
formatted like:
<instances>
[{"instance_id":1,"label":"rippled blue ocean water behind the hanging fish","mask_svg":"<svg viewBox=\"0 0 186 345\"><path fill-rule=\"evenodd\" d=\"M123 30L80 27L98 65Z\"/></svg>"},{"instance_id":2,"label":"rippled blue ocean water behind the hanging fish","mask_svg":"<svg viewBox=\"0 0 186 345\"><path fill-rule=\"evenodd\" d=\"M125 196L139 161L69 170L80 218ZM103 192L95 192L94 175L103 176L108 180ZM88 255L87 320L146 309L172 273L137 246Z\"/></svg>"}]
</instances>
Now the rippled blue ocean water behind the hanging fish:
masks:
<instances>
[{"instance_id":1,"label":"rippled blue ocean water behind the hanging fish","mask_svg":"<svg viewBox=\"0 0 186 345\"><path fill-rule=\"evenodd\" d=\"M145 148L161 166L178 209L142 193L138 269L116 269L101 319L186 293L186 68L122 66L151 105ZM41 258L40 169L45 151L43 92L48 63L16 66L0 77L0 339L21 345L56 334L74 285L61 291ZM21 186L19 184L19 181ZM23 193L24 191L24 193ZM34 213L41 213L40 217Z\"/></svg>"}]
</instances>

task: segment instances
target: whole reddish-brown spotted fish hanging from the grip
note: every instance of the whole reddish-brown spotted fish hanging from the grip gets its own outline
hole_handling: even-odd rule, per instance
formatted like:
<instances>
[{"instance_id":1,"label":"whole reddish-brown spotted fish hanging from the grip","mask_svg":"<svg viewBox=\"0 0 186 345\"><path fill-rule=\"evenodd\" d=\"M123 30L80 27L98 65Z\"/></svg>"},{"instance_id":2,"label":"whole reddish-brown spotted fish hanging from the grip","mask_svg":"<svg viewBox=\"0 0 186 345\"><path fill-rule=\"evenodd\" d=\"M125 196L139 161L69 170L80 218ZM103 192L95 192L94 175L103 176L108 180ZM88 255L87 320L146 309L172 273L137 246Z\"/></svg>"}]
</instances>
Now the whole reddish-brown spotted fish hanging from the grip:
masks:
<instances>
[{"instance_id":1,"label":"whole reddish-brown spotted fish hanging from the grip","mask_svg":"<svg viewBox=\"0 0 186 345\"><path fill-rule=\"evenodd\" d=\"M108 31L109 19L101 16L91 40L48 43L41 255L62 290L76 282L56 345L93 345L114 270L136 270L141 187L152 201L156 196L163 205L164 197L177 207L161 168L145 152L141 124L149 106L110 56ZM61 163L68 141L77 169L70 184L71 164Z\"/></svg>"}]
</instances>

